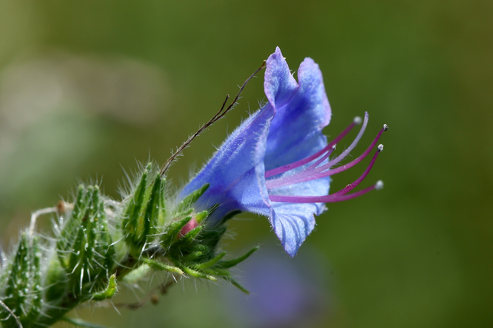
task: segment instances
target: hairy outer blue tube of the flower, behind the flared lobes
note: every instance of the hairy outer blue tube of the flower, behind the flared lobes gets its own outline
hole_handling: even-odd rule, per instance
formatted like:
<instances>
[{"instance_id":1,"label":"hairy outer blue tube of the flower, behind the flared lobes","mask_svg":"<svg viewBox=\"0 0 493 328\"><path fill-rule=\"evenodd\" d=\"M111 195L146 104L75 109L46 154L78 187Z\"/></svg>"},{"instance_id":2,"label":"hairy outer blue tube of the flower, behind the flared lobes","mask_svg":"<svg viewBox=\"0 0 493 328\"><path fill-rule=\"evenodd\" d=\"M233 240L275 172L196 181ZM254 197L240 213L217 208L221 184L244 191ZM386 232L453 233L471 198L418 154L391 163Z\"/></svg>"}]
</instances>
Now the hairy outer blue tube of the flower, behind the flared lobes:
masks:
<instances>
[{"instance_id":1,"label":"hairy outer blue tube of the flower, behind the flared lobes","mask_svg":"<svg viewBox=\"0 0 493 328\"><path fill-rule=\"evenodd\" d=\"M196 210L220 204L208 219L214 224L230 211L241 210L269 215L261 197L253 158L258 141L266 139L274 109L266 106L248 117L219 147L209 163L180 192L182 199L206 183L207 191L196 203Z\"/></svg>"}]
</instances>

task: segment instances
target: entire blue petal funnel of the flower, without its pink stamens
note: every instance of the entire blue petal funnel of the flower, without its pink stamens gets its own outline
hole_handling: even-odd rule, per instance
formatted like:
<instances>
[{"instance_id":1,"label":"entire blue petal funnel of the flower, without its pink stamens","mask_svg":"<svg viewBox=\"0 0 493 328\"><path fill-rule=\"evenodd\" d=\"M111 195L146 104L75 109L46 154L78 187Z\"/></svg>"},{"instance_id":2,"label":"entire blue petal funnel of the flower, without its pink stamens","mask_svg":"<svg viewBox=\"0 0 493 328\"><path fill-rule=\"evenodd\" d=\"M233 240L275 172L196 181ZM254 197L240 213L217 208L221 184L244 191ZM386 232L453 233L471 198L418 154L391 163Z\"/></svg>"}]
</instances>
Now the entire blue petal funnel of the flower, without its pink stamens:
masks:
<instances>
[{"instance_id":1,"label":"entire blue petal funnel of the flower, without its pink stamens","mask_svg":"<svg viewBox=\"0 0 493 328\"><path fill-rule=\"evenodd\" d=\"M197 210L219 204L208 219L210 223L214 224L233 210L268 216L284 250L294 256L314 229L315 215L320 215L325 205L271 202L269 195L327 195L330 178L268 190L265 171L301 160L325 147L327 139L322 129L330 122L331 109L322 73L311 58L301 63L298 82L279 47L269 56L266 65L267 105L226 139L209 163L180 192L179 198L210 183L196 204ZM310 164L281 176L292 175Z\"/></svg>"}]
</instances>

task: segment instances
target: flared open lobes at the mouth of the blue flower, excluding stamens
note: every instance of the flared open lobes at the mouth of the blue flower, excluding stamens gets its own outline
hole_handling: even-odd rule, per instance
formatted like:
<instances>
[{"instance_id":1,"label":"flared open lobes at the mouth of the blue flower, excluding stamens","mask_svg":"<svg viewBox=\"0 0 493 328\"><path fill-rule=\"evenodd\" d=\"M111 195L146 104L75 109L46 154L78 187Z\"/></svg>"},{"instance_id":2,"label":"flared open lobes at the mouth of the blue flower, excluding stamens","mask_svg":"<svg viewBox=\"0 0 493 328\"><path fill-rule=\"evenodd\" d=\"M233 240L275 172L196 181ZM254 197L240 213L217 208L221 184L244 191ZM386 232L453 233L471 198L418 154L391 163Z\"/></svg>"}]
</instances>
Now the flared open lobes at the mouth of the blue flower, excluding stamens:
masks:
<instances>
[{"instance_id":1,"label":"flared open lobes at the mouth of the blue flower, excluding stamens","mask_svg":"<svg viewBox=\"0 0 493 328\"><path fill-rule=\"evenodd\" d=\"M266 141L260 141L264 152L256 154L255 169L260 189L265 193L265 170L303 159L327 145L322 129L329 124L331 110L318 65L306 58L298 70L299 85L292 77L279 48L267 61L264 89L269 105L276 115L272 120ZM263 161L260 160L263 157ZM309 164L308 164L309 165ZM307 165L307 166L308 166ZM305 166L306 167L306 166ZM299 168L284 175L291 175ZM329 178L296 183L269 191L282 195L326 195ZM270 203L269 219L274 232L281 240L287 254L294 256L315 226L315 214L320 215L325 206L319 204Z\"/></svg>"}]
</instances>

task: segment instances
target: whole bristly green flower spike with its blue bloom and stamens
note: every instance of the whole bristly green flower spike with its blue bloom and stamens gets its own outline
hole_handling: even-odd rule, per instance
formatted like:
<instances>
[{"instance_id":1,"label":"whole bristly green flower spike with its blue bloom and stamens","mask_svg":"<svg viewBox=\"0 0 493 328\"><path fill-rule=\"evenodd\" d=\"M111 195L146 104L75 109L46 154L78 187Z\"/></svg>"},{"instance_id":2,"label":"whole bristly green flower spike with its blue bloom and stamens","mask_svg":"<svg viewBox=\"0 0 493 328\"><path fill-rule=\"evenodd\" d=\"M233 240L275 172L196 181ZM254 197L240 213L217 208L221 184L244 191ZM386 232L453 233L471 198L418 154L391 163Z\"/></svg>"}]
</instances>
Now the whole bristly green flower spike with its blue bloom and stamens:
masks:
<instances>
[{"instance_id":1,"label":"whole bristly green flower spike with its blue bloom and stamens","mask_svg":"<svg viewBox=\"0 0 493 328\"><path fill-rule=\"evenodd\" d=\"M172 194L165 179L170 165L195 137L234 108L248 80L263 68L268 102L227 138L178 195ZM12 254L5 256L0 247L0 327L51 327L60 320L99 327L66 315L82 303L113 304L111 298L120 282L138 287L155 271L167 278L137 303L113 304L115 310L121 306L135 309L148 300L157 303L157 289L165 293L178 277L224 279L248 293L229 269L258 246L236 258L219 250L226 222L234 215L247 211L268 217L285 252L294 256L313 231L315 216L326 210L325 203L383 188L384 183L378 181L353 191L384 149L378 141L388 130L386 124L359 157L334 168L360 141L368 113L364 118L354 117L341 134L327 142L322 130L332 112L322 73L311 58L301 63L296 80L276 48L255 73L230 105L226 96L211 120L162 167L151 162L140 165L132 179L127 176L121 201L105 196L98 183L80 184L69 202L33 212ZM333 156L336 144L358 124L361 127L351 145ZM360 163L375 146L361 176L329 194L330 176ZM56 215L54 233L36 233L38 216L49 213Z\"/></svg>"}]
</instances>

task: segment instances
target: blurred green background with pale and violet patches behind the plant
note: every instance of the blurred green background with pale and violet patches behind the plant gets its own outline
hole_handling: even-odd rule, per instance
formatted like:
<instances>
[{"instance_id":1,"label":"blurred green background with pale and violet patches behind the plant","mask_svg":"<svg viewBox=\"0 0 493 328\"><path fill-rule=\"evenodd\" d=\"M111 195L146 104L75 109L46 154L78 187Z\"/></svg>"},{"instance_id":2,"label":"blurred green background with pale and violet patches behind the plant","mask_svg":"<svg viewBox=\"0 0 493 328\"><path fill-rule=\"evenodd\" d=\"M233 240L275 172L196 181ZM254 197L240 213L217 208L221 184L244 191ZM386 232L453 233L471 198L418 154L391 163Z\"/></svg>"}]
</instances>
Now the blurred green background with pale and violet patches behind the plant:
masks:
<instances>
[{"instance_id":1,"label":"blurred green background with pale and violet patches behind the plant","mask_svg":"<svg viewBox=\"0 0 493 328\"><path fill-rule=\"evenodd\" d=\"M365 110L361 145L388 124L365 182L386 187L330 204L293 259L265 218L232 221L226 249L262 244L238 271L248 297L190 280L157 305L74 315L114 328L492 327L492 17L487 0L0 0L1 245L77 179L118 197L122 168L163 163L280 46L292 70L320 65L327 135ZM177 186L258 108L262 83L185 151Z\"/></svg>"}]
</instances>

